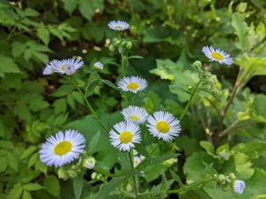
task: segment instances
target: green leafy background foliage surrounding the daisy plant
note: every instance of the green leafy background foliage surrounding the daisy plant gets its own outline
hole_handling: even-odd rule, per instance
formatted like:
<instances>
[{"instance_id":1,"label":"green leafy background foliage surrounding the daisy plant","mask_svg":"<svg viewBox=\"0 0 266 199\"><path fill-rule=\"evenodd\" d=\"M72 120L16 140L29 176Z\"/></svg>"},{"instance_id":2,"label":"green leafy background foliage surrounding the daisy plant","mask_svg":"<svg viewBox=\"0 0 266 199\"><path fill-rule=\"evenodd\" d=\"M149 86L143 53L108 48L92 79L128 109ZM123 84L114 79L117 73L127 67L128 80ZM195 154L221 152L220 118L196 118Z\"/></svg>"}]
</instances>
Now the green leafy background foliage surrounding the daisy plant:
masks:
<instances>
[{"instance_id":1,"label":"green leafy background foliage surrounding the daisy plant","mask_svg":"<svg viewBox=\"0 0 266 199\"><path fill-rule=\"evenodd\" d=\"M60 181L55 170L38 159L40 143L59 129L68 128L77 129L89 142L101 128L72 84L53 75L43 77L42 71L50 59L78 56L86 64L78 71L80 87L85 85L96 61L104 63L101 78L117 83L120 73L110 63L118 59L108 50L110 40L116 36L107 27L110 20L130 23L127 36L137 40L130 55L138 54L144 59L130 59L129 75L148 80L147 91L138 94L135 101L149 113L165 109L176 117L181 114L189 96L168 86L188 87L197 82L197 73L190 64L207 61L201 52L204 45L219 47L235 57L232 67L214 66L221 103L214 97L207 99L204 92L197 94L179 138L156 152L182 155L148 166L144 170L145 181L139 182L142 191L160 190L162 173L169 168L184 183L195 182L205 161L213 162L221 173L235 172L245 180L244 194L237 196L207 184L201 191L180 193L179 198L265 198L265 8L263 0L1 1L0 198L74 198L71 180ZM242 90L225 117L228 132L213 145L206 141L201 119L215 133L215 108L225 106L239 68L244 71L247 85L241 85ZM94 76L95 80L99 78ZM103 82L89 100L106 126L123 119L119 92ZM147 142L148 149L156 142ZM109 169L118 166L119 153L104 133L95 152L97 161ZM165 175L167 179L171 176L168 171ZM84 180L90 180L90 173ZM179 187L173 181L167 183L172 189ZM85 183L81 198L94 198L99 186Z\"/></svg>"}]
</instances>

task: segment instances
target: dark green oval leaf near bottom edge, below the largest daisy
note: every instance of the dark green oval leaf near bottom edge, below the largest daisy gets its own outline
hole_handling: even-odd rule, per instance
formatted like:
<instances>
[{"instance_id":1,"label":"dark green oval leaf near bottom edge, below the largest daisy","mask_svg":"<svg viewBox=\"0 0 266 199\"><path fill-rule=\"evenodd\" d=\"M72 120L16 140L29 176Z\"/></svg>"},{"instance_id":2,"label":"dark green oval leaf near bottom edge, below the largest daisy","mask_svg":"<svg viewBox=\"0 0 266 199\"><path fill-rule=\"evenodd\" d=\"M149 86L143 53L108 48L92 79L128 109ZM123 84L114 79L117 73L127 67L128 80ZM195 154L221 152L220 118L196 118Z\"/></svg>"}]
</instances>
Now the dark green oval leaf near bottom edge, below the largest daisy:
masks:
<instances>
[{"instance_id":1,"label":"dark green oval leaf near bottom edge, below the largest daisy","mask_svg":"<svg viewBox=\"0 0 266 199\"><path fill-rule=\"evenodd\" d=\"M52 196L60 196L60 184L58 178L55 177L55 175L48 175L47 177L45 177L43 186L45 187L46 191Z\"/></svg>"}]
</instances>

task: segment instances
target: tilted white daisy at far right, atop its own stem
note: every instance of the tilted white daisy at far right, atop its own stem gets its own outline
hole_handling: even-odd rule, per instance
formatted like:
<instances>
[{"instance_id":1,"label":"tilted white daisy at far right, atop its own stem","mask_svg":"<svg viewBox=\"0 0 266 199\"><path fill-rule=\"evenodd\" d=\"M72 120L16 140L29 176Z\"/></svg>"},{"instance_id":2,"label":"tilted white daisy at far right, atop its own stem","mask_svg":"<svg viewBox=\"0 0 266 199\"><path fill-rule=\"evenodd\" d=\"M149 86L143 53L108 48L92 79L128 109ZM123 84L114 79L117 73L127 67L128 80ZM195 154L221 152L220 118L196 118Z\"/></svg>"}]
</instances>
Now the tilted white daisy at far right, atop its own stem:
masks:
<instances>
[{"instance_id":1,"label":"tilted white daisy at far right, atop its own stem","mask_svg":"<svg viewBox=\"0 0 266 199\"><path fill-rule=\"evenodd\" d=\"M230 57L230 54L227 54L220 49L214 49L212 46L204 46L202 52L210 59L210 61L218 61L219 64L226 64L228 66L234 63L234 59Z\"/></svg>"}]
</instances>

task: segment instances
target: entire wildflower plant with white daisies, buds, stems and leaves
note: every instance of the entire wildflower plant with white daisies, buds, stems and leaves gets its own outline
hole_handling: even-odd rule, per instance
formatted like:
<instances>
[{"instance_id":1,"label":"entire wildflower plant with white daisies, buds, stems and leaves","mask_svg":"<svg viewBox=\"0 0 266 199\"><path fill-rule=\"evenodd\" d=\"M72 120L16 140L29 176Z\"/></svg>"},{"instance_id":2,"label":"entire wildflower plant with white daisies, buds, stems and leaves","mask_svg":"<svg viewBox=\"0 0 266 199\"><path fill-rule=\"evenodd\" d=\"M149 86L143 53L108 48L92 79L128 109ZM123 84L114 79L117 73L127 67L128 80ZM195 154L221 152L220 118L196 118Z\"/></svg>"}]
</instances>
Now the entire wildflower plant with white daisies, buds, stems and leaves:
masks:
<instances>
[{"instance_id":1,"label":"entire wildflower plant with white daisies, buds, stems and leaves","mask_svg":"<svg viewBox=\"0 0 266 199\"><path fill-rule=\"evenodd\" d=\"M207 68L202 67L201 61L195 61L192 66L195 68L199 76L199 81L189 89L172 86L180 91L190 94L188 103L180 113L179 117L174 116L171 112L165 110L160 110L153 112L151 115L146 112L142 107L134 105L134 95L138 95L140 92L146 92L148 90L148 81L139 76L127 76L128 66L128 51L132 47L132 41L123 38L121 31L126 30L130 27L127 22L109 22L110 29L118 31L118 37L113 39L113 42L109 45L109 50L115 54L118 52L120 54L120 64L116 64L120 67L122 77L118 81L117 86L112 82L109 82L109 86L116 88L122 94L125 101L123 104L123 110L121 110L121 115L124 117L124 121L120 121L109 128L104 126L102 121L99 119L96 112L90 105L88 101L88 92L94 89L94 83L91 81L94 73L102 71L104 64L97 61L93 65L92 73L85 84L85 89L78 86L76 82L76 73L78 69L85 67L85 64L80 59L63 59L63 60L53 60L45 67L43 75L52 75L57 73L66 80L69 80L78 90L80 96L82 96L85 101L87 108L90 110L94 119L99 123L104 129L105 135L108 135L110 140L110 145L113 145L118 152L120 152L123 159L120 159L123 167L120 170L116 170L111 173L103 165L97 162L92 155L94 147L99 142L101 145L101 140L99 140L99 133L92 138L88 147L85 147L85 138L81 133L75 130L67 130L66 133L59 131L54 136L48 138L46 142L43 143L42 149L40 150L40 159L43 163L52 166L55 165L56 168L59 167L58 177L61 179L73 179L73 188L76 194L76 198L79 198L83 186L83 175L85 170L94 170L92 172L91 178L93 182L103 182L106 184L98 193L96 198L104 198L109 194L109 192L118 186L117 180L122 183L127 179L132 179L132 181L127 181L127 189L120 190L121 193L126 193L132 198L140 198L142 196L165 196L169 193L180 193L182 191L188 191L190 189L197 189L204 184L209 182L216 182L221 190L228 191L232 189L235 193L241 194L244 191L245 183L241 180L235 179L235 175L231 173L228 176L223 174L218 174L216 170L212 167L212 164L204 163L206 166L205 174L197 182L190 185L183 185L181 179L176 173L170 170L173 179L179 183L180 189L169 190L161 189L158 191L145 190L140 191L139 187L139 177L145 175L143 171L146 166L153 165L155 163L162 163L168 161L169 159L174 159L180 154L164 154L161 156L154 156L154 152L161 145L167 145L167 143L174 142L174 140L179 139L179 135L182 134L182 120L186 115L190 104L193 101L197 91L204 90L209 94L214 96L218 101L219 91L216 88L217 78L216 75L211 74L211 67L214 65L214 61L219 64L225 64L230 66L233 64L233 59L230 58L229 54L221 50L215 50L214 47L203 47L202 52L209 58L211 63ZM134 57L134 56L133 56ZM106 80L107 81L107 80ZM203 88L202 85L205 87ZM207 89L207 87L209 87ZM128 95L128 94L131 95ZM129 103L129 98L131 98L131 105ZM144 130L145 129L145 130ZM146 135L142 131L146 131ZM150 134L150 135L148 135ZM146 148L146 143L152 137L157 142L153 149L149 150ZM125 168L125 164L128 163L129 166ZM112 179L109 181L109 177ZM166 179L165 179L166 180ZM130 188L131 187L131 188ZM112 189L111 189L112 188Z\"/></svg>"}]
</instances>

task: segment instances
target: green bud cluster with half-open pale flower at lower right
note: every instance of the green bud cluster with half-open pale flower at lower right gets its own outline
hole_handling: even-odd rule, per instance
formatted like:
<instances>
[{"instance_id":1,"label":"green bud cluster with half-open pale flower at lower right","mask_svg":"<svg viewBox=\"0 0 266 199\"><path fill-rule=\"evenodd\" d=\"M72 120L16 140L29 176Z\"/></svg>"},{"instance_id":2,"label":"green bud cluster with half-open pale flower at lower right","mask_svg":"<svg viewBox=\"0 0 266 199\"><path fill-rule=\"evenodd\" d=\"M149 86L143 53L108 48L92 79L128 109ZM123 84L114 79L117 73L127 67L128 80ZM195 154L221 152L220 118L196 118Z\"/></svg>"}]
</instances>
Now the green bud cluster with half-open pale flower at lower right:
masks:
<instances>
[{"instance_id":1,"label":"green bud cluster with half-open pale flower at lower right","mask_svg":"<svg viewBox=\"0 0 266 199\"><path fill-rule=\"evenodd\" d=\"M245 189L245 182L242 180L238 180L235 177L234 173L230 173L230 175L214 175L214 177L217 179L218 184L221 185L221 189L223 191L228 191L230 189L233 189L235 193L242 194Z\"/></svg>"}]
</instances>

